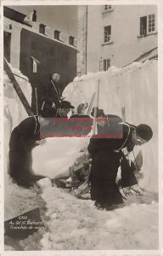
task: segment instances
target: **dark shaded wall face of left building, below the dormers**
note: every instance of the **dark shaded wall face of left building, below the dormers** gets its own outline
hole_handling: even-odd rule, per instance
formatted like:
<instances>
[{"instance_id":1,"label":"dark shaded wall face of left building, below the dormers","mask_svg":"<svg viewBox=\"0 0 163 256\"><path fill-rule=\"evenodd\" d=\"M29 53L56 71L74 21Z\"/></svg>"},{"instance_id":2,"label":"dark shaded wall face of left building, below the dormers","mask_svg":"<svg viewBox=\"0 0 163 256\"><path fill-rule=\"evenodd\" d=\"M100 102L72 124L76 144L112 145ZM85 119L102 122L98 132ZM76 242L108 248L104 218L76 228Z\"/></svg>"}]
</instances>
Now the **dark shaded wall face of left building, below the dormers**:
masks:
<instances>
[{"instance_id":1,"label":"dark shaded wall face of left building, below the dormers","mask_svg":"<svg viewBox=\"0 0 163 256\"><path fill-rule=\"evenodd\" d=\"M37 87L39 99L46 90L50 74L60 73L62 90L76 77L76 49L25 29L20 38L20 70L29 78L32 87ZM40 62L37 73L33 73L31 56Z\"/></svg>"}]
</instances>

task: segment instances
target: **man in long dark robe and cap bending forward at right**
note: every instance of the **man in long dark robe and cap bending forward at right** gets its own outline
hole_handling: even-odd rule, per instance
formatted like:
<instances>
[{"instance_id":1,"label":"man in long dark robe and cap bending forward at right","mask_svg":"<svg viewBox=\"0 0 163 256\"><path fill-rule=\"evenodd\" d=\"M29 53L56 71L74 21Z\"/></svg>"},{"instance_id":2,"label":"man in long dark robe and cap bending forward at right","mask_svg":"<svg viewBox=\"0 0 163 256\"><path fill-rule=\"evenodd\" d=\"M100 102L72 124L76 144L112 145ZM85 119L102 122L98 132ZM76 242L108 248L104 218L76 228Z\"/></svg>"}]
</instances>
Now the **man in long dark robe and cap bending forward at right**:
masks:
<instances>
[{"instance_id":1,"label":"man in long dark robe and cap bending forward at right","mask_svg":"<svg viewBox=\"0 0 163 256\"><path fill-rule=\"evenodd\" d=\"M110 209L123 202L115 182L120 165L121 187L128 188L138 184L121 149L126 148L131 152L135 145L147 143L153 132L149 125L121 123L118 116L113 116L112 119L102 109L98 109L97 118L98 137L92 137L88 145L88 152L92 157L91 198L96 207Z\"/></svg>"}]
</instances>

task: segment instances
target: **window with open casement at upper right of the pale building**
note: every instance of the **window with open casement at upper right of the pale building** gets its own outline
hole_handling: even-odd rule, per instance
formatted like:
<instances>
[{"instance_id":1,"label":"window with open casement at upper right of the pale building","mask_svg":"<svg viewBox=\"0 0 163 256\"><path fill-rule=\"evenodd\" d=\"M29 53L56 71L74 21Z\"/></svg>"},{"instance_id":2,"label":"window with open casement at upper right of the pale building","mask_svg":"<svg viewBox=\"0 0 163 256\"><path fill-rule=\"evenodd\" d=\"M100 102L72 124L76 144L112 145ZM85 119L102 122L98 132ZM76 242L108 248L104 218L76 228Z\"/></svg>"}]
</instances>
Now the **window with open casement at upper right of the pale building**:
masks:
<instances>
[{"instance_id":1,"label":"window with open casement at upper right of the pale building","mask_svg":"<svg viewBox=\"0 0 163 256\"><path fill-rule=\"evenodd\" d=\"M140 17L140 36L155 32L155 15Z\"/></svg>"}]
</instances>

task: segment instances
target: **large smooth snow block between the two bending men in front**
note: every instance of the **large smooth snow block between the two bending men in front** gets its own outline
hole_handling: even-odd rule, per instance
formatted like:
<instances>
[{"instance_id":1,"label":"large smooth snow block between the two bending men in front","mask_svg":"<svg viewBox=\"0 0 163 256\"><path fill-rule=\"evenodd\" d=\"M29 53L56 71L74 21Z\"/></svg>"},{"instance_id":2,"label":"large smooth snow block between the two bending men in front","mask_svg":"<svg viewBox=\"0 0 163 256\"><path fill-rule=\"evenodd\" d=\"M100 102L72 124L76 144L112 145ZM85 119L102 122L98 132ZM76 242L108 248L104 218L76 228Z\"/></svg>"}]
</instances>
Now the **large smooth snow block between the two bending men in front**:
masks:
<instances>
[{"instance_id":1,"label":"large smooth snow block between the two bending men in front","mask_svg":"<svg viewBox=\"0 0 163 256\"><path fill-rule=\"evenodd\" d=\"M88 138L84 140L76 137L48 138L45 145L33 149L34 172L48 177L57 177L63 172L68 173L69 167L79 156L80 149L88 142Z\"/></svg>"}]
</instances>

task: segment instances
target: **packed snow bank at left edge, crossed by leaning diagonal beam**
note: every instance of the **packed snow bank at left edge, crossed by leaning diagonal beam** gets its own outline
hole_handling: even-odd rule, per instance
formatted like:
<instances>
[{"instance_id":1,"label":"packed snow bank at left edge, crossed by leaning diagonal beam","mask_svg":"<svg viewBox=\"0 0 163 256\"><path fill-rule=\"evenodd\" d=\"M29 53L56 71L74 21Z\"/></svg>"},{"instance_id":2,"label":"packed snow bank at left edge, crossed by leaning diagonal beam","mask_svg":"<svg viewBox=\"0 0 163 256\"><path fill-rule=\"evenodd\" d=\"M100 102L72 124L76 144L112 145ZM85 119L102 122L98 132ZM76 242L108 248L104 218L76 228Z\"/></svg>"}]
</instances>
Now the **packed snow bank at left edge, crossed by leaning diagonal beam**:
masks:
<instances>
[{"instance_id":1,"label":"packed snow bank at left edge, crossed by leaning diagonal beam","mask_svg":"<svg viewBox=\"0 0 163 256\"><path fill-rule=\"evenodd\" d=\"M15 74L15 79L20 88L25 94L25 97L29 104L31 105L31 84L28 79L20 73L20 70L9 65L12 72ZM3 103L4 103L4 156L5 156L5 171L7 172L8 166L8 143L11 131L16 125L19 125L20 122L28 117L28 114L23 107L23 104L20 102L20 98L14 90L14 85L8 79L7 73L3 73Z\"/></svg>"}]
</instances>

